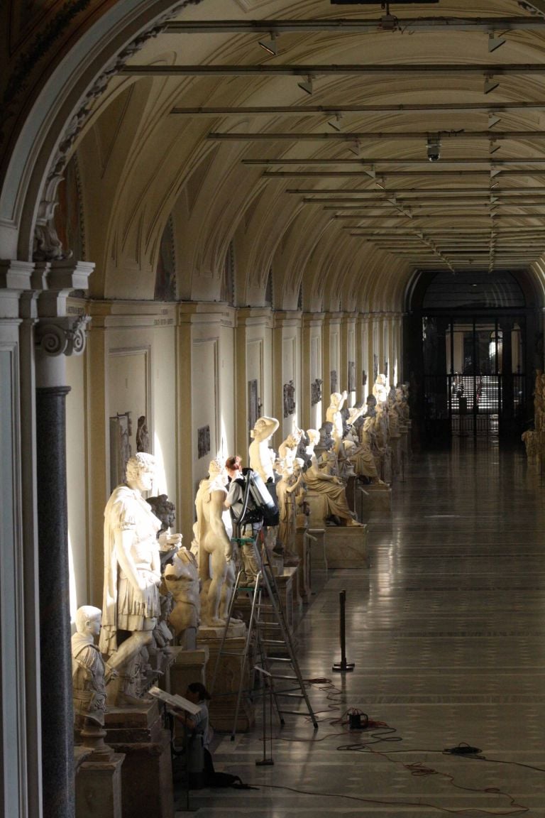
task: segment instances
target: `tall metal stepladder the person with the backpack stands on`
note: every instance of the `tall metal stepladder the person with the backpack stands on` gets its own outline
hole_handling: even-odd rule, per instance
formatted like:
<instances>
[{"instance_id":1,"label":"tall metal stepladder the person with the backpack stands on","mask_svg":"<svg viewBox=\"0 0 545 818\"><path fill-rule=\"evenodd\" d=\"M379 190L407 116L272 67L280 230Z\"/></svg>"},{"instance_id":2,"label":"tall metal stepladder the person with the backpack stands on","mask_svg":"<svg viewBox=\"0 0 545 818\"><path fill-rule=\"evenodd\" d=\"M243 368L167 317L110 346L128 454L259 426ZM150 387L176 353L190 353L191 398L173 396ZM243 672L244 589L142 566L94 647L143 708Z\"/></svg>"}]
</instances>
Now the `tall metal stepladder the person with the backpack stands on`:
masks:
<instances>
[{"instance_id":1,"label":"tall metal stepladder the person with the backpack stands on","mask_svg":"<svg viewBox=\"0 0 545 818\"><path fill-rule=\"evenodd\" d=\"M245 597L249 603L248 629L242 654L237 654L240 656L241 672L231 740L235 739L239 709L245 693L252 698L259 694L264 697L270 695L280 726L284 726L285 717L306 717L317 730L318 722L297 661L296 647L286 621L263 529L252 532L251 536L240 536L243 531L243 528L235 526L234 533L239 536L233 539L239 550L244 550L246 560L252 561L252 580L248 582L248 575L242 569L237 574L212 677L212 691L222 655L232 655L226 634L234 606L237 600ZM248 680L250 690L245 690Z\"/></svg>"}]
</instances>

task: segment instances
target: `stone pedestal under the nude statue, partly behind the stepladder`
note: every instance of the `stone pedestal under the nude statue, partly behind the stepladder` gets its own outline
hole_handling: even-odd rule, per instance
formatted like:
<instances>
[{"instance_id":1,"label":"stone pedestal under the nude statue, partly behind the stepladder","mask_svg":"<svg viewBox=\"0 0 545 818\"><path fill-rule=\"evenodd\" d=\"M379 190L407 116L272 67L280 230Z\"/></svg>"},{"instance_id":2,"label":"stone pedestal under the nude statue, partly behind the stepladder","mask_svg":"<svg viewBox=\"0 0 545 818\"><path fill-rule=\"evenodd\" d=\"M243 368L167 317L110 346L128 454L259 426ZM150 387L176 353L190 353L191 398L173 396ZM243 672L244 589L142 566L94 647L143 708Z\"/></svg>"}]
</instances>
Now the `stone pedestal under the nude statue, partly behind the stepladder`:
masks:
<instances>
[{"instance_id":1,"label":"stone pedestal under the nude statue, partly behind the stepladder","mask_svg":"<svg viewBox=\"0 0 545 818\"><path fill-rule=\"evenodd\" d=\"M242 636L228 636L223 645L219 667L217 667L216 681L212 690L212 701L209 705L210 723L214 730L220 733L230 733L233 730L235 719L235 708L239 686L242 679L243 690L250 690L252 683L253 658L251 651L248 654L246 668L243 668L243 650L246 644L246 626L243 622L237 622L237 627L242 626ZM216 671L216 663L221 647L220 636L211 636L211 631L215 629L200 627L197 645L199 649L208 649L208 663L206 665L205 685L208 690L212 687L212 679ZM244 677L242 678L242 676ZM255 711L248 694L243 693L240 701L239 718L236 724L237 733L246 733L255 723Z\"/></svg>"}]
</instances>

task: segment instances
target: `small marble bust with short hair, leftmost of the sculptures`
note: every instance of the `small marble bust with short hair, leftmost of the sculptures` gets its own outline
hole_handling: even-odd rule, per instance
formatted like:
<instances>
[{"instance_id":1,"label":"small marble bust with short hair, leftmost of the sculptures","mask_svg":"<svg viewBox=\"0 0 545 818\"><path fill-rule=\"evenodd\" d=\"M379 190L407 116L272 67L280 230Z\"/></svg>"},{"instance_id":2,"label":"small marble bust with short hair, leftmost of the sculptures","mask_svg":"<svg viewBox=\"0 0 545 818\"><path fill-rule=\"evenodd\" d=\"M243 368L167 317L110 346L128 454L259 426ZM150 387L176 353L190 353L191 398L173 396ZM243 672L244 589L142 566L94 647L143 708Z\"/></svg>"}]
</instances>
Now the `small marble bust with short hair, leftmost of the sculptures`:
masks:
<instances>
[{"instance_id":1,"label":"small marble bust with short hair, leftmost of the sculptures","mask_svg":"<svg viewBox=\"0 0 545 818\"><path fill-rule=\"evenodd\" d=\"M76 632L71 648L74 717L79 729L89 722L104 726L109 673L95 644L95 637L101 632L101 617L101 609L92 605L82 605L76 611Z\"/></svg>"}]
</instances>

